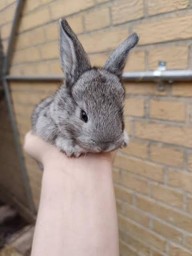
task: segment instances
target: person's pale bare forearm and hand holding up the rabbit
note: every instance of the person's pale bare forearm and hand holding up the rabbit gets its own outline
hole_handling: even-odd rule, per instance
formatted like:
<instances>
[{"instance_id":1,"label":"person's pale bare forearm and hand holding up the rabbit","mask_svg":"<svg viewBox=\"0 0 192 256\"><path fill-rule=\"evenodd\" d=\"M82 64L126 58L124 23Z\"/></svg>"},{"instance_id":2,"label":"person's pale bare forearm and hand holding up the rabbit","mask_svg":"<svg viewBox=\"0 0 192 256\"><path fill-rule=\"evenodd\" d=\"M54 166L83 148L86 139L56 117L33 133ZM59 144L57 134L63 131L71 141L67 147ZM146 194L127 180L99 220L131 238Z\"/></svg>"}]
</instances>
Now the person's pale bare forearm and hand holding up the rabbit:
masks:
<instances>
[{"instance_id":1,"label":"person's pale bare forearm and hand holding up the rabbit","mask_svg":"<svg viewBox=\"0 0 192 256\"><path fill-rule=\"evenodd\" d=\"M29 132L25 151L44 165L32 256L119 256L112 156L70 158Z\"/></svg>"}]
</instances>

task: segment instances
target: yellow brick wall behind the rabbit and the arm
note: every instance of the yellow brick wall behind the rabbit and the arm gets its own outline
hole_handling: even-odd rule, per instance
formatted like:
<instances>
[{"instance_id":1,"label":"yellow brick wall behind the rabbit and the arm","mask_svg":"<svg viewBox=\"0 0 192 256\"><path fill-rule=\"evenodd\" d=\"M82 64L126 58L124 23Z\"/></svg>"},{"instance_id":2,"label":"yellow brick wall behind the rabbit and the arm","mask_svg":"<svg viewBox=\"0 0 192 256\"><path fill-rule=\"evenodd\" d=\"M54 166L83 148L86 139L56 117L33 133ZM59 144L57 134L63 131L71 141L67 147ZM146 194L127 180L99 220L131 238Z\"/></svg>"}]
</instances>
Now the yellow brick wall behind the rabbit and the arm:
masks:
<instances>
[{"instance_id":1,"label":"yellow brick wall behind the rabbit and the arm","mask_svg":"<svg viewBox=\"0 0 192 256\"><path fill-rule=\"evenodd\" d=\"M12 3L13 2L13 3ZM192 68L192 2L189 0L27 0L11 74L61 73L58 25L66 17L89 53L103 65L130 33L140 35L125 71ZM14 1L1 0L0 31L6 49ZM3 18L4 17L4 18ZM56 90L52 83L11 83L20 140L30 129L36 103ZM125 255L192 255L192 83L125 83L129 147L114 160L114 184ZM26 156L36 206L41 172Z\"/></svg>"}]
</instances>

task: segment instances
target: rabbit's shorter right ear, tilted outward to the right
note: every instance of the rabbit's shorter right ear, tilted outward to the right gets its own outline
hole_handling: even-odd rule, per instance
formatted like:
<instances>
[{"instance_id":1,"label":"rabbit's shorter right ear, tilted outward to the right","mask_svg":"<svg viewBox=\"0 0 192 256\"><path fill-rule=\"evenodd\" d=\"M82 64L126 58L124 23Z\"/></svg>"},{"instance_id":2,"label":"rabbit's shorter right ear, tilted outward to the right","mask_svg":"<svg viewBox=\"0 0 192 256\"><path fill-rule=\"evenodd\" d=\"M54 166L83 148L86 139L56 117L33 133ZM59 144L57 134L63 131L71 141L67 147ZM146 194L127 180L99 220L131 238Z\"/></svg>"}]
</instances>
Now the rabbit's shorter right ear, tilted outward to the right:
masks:
<instances>
[{"instance_id":1,"label":"rabbit's shorter right ear, tilted outward to the right","mask_svg":"<svg viewBox=\"0 0 192 256\"><path fill-rule=\"evenodd\" d=\"M139 36L134 33L120 44L109 56L104 68L121 77L129 51L138 43Z\"/></svg>"}]
</instances>

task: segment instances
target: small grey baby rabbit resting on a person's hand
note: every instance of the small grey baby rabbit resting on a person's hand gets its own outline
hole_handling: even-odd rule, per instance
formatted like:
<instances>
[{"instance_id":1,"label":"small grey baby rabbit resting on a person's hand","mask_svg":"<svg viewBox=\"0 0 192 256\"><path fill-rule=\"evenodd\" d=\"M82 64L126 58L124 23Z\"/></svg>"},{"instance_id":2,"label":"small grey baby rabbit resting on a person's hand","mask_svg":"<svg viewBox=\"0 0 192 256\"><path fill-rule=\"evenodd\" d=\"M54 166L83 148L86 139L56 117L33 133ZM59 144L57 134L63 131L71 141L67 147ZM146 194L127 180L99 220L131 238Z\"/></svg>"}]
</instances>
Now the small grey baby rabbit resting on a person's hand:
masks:
<instances>
[{"instance_id":1,"label":"small grey baby rabbit resting on a person's hand","mask_svg":"<svg viewBox=\"0 0 192 256\"><path fill-rule=\"evenodd\" d=\"M124 128L125 89L121 76L129 51L138 43L129 36L104 67L91 67L88 55L65 19L59 21L60 62L65 85L41 101L32 114L32 131L67 156L109 152L128 144Z\"/></svg>"}]
</instances>

